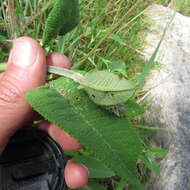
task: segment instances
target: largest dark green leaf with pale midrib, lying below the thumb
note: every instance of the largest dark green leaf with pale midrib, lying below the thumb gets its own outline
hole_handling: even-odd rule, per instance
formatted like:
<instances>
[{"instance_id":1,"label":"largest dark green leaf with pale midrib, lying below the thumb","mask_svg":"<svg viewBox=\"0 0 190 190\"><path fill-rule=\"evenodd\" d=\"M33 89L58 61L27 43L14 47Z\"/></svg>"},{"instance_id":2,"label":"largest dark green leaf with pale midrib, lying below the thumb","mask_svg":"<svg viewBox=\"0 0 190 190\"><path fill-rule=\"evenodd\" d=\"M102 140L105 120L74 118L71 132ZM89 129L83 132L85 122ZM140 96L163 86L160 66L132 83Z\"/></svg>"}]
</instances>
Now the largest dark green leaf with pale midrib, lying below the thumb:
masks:
<instances>
[{"instance_id":1,"label":"largest dark green leaf with pale midrib, lying below the thumb","mask_svg":"<svg viewBox=\"0 0 190 190\"><path fill-rule=\"evenodd\" d=\"M90 149L116 175L138 190L136 161L142 151L140 138L126 119L113 117L92 103L65 78L27 93L26 99L42 116Z\"/></svg>"}]
</instances>

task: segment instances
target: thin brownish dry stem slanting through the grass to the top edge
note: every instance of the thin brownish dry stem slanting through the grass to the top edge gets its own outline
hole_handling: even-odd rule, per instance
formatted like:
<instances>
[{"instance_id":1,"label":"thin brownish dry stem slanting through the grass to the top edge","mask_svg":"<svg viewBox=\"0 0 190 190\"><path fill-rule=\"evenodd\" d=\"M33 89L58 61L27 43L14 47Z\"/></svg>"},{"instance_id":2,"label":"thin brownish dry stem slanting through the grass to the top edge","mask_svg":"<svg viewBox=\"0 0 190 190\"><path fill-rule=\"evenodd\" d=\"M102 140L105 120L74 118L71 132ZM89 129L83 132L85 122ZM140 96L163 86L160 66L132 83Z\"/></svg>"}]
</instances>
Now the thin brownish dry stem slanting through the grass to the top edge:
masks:
<instances>
[{"instance_id":1,"label":"thin brownish dry stem slanting through the grass to the top edge","mask_svg":"<svg viewBox=\"0 0 190 190\"><path fill-rule=\"evenodd\" d=\"M119 26L121 26L121 24L125 21L125 19L134 11L138 8L140 1L137 1L137 3L135 5L133 5L128 11L127 13L119 20L118 23L115 24L115 26L113 26L113 28L108 31L108 33L99 41L99 43L97 43L94 48L81 60L80 63L73 65L72 69L78 69L80 68L82 65L84 65L84 63L86 62L86 60L94 54L94 52L96 51L96 49L98 47L100 47L100 45L102 45L102 43L111 35L113 34L118 28Z\"/></svg>"}]
</instances>

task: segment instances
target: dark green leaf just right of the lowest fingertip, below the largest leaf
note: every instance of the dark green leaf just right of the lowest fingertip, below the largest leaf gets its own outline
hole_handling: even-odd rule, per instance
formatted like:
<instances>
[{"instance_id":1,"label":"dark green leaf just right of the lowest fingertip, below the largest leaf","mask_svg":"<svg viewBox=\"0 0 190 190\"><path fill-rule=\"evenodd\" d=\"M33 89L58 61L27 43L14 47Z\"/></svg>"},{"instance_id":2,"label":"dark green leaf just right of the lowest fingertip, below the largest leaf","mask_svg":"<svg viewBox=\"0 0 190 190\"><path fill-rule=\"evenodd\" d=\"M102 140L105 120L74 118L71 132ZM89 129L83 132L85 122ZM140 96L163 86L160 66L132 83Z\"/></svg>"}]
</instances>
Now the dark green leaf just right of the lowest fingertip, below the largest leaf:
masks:
<instances>
[{"instance_id":1,"label":"dark green leaf just right of the lowest fingertip, below the largest leaf","mask_svg":"<svg viewBox=\"0 0 190 190\"><path fill-rule=\"evenodd\" d=\"M115 176L115 173L111 169L91 156L76 155L72 159L84 164L89 169L90 178L108 178Z\"/></svg>"}]
</instances>

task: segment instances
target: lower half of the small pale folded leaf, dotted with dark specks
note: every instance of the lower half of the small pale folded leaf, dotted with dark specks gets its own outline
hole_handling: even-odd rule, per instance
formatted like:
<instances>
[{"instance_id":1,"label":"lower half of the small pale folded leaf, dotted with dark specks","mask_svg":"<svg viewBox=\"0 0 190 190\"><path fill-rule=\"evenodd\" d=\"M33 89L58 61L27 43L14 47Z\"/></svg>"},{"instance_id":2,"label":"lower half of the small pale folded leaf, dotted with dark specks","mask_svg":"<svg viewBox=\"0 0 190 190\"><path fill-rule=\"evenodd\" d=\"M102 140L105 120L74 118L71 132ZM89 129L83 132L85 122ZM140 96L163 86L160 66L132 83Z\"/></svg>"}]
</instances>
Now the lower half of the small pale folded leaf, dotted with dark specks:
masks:
<instances>
[{"instance_id":1,"label":"lower half of the small pale folded leaf, dotted with dark specks","mask_svg":"<svg viewBox=\"0 0 190 190\"><path fill-rule=\"evenodd\" d=\"M134 90L119 92L98 91L92 88L85 88L84 90L95 104L101 106L111 106L125 103L135 93Z\"/></svg>"}]
</instances>

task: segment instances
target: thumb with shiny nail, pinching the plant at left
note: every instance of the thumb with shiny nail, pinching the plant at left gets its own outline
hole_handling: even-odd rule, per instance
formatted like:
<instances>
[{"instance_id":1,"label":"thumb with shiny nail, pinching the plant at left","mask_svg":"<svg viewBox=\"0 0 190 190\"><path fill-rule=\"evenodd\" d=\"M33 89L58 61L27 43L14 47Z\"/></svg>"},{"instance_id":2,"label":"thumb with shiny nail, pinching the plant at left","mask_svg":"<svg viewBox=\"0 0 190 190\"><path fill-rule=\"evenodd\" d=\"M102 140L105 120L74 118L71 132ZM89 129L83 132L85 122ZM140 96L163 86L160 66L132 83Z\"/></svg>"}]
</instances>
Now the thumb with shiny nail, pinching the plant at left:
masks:
<instances>
[{"instance_id":1,"label":"thumb with shiny nail, pinching the plant at left","mask_svg":"<svg viewBox=\"0 0 190 190\"><path fill-rule=\"evenodd\" d=\"M46 58L29 37L14 40L7 71L0 79L0 151L32 111L24 94L45 82Z\"/></svg>"}]
</instances>

